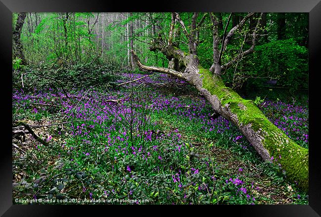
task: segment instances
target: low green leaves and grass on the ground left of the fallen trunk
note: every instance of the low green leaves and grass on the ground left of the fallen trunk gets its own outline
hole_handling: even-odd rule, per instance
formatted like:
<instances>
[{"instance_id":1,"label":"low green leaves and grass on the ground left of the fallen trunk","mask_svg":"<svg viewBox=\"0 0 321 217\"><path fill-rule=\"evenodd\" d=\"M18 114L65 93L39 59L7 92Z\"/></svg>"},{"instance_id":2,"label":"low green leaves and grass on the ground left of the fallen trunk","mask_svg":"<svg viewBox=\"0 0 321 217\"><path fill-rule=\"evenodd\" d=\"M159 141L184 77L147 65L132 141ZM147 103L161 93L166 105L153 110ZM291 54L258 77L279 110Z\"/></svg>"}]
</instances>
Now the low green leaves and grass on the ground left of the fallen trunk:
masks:
<instances>
[{"instance_id":1,"label":"low green leaves and grass on the ground left of the fallen trunk","mask_svg":"<svg viewBox=\"0 0 321 217\"><path fill-rule=\"evenodd\" d=\"M212 125L206 124L210 121L211 107L202 98L191 98L190 95L176 98L145 91L140 94L145 94L146 99L141 99L148 106L146 109L151 117L146 129L153 133L151 140L137 137L132 145L128 139L129 130L123 122L117 115L99 109L100 103L92 105L85 101L78 104L78 99L62 99L66 105L63 110L78 104L75 114L90 115L86 112L87 107L94 116L107 115L108 118L100 123L75 121L64 125L63 129L59 126L46 128L41 133L42 138L51 141L52 149L33 144L25 149L25 155L15 150L13 165L17 167L14 169L26 168L23 169L26 175L13 184L13 197L27 199L37 192L38 199L63 198L67 200L65 204L94 204L90 198L148 199L141 204L307 204L308 195L298 191L295 184L289 185L277 164L263 162L254 147L239 136L241 132L235 126L222 117ZM77 93L82 92L73 94ZM95 88L90 97L100 101L110 99L116 93L118 99L123 99L120 105L129 108L129 88L117 92ZM46 108L35 110L31 106L39 101L53 103L56 95L52 92L41 90L31 95L15 92L14 96L20 102L13 106L14 117L19 115L19 118L34 121L54 117L47 115ZM163 109L157 112L150 107L157 105L154 100L163 102L165 99L168 99L167 107L160 104ZM134 102L138 106L135 109L144 106L144 102L136 99ZM180 108L176 108L175 102L181 105ZM278 117L280 110L269 117ZM63 111L57 109L56 112L58 117ZM189 115L190 112L196 115ZM264 112L268 114L269 110ZM307 113L302 115L307 116ZM154 124L156 122L158 124ZM215 130L205 130L204 125L215 127ZM143 140L145 145L142 145ZM41 159L42 164L31 163L31 159ZM21 163L22 160L25 162ZM15 173L15 180L18 174ZM288 186L292 191L287 190ZM108 203L120 204L117 201Z\"/></svg>"}]
</instances>

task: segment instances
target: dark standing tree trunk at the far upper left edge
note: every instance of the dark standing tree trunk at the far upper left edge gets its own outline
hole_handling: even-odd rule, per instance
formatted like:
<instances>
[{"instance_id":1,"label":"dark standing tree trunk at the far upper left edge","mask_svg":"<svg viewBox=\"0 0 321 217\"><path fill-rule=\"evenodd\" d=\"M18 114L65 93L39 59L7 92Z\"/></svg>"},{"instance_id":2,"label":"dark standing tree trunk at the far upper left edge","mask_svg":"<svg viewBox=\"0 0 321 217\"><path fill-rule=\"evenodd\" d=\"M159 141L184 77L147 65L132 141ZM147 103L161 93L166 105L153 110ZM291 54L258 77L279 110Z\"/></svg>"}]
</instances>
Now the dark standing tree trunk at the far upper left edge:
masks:
<instances>
[{"instance_id":1,"label":"dark standing tree trunk at the far upper left edge","mask_svg":"<svg viewBox=\"0 0 321 217\"><path fill-rule=\"evenodd\" d=\"M22 64L26 64L25 56L22 52L21 30L27 13L19 13L15 29L13 30L13 58L21 59Z\"/></svg>"}]
</instances>

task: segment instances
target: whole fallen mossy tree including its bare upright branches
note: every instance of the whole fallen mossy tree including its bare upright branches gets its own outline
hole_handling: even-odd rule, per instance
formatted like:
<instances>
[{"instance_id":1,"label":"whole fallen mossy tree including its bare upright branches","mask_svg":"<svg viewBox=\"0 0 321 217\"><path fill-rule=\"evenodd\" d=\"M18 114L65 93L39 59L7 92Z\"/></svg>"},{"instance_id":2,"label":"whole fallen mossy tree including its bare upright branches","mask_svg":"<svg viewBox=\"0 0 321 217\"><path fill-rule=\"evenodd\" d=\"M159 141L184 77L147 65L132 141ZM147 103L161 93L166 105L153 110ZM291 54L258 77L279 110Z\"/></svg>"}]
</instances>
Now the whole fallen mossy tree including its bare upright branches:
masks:
<instances>
[{"instance_id":1,"label":"whole fallen mossy tree including its bare upright branches","mask_svg":"<svg viewBox=\"0 0 321 217\"><path fill-rule=\"evenodd\" d=\"M275 164L281 164L282 170L286 171L286 177L289 181L297 183L298 186L308 191L308 169L309 169L309 151L295 144L290 140L278 127L272 124L267 117L258 109L251 100L244 100L234 90L226 87L220 74L222 69L226 69L229 65L233 64L233 60L227 64L221 66L219 61L220 52L218 51L218 37L217 25L218 19L214 14L210 13L210 18L213 22L213 60L214 63L211 70L203 69L199 65L197 56L197 44L195 39L197 13L193 15L191 22L190 33L187 32L184 23L180 19L177 13L175 19L181 24L185 35L189 39L190 53L185 55L178 48L173 49L170 45L163 45L160 37L152 45L152 49L160 50L167 58L175 56L184 66L184 70L176 71L174 69L167 69L161 67L149 67L144 66L139 61L137 55L131 50L132 57L135 60L137 66L142 71L148 72L161 72L171 74L183 80L186 80L189 84L193 85L199 92L205 97L212 109L230 120L235 124L242 134L246 137L251 145L255 148L257 153L263 160L273 162ZM238 30L244 22L252 16L254 13L249 13L242 21L233 28L225 41L228 41L234 35L234 32ZM262 17L261 13L260 17ZM252 46L244 51L240 52L241 56L247 55L253 52L255 46L256 33L258 26L260 25L260 19L258 19L257 25L252 33ZM157 42L158 41L158 42ZM226 43L226 44L227 44ZM226 46L224 44L224 46ZM240 55L236 57L236 60L240 58ZM277 159L273 160L273 159Z\"/></svg>"}]
</instances>

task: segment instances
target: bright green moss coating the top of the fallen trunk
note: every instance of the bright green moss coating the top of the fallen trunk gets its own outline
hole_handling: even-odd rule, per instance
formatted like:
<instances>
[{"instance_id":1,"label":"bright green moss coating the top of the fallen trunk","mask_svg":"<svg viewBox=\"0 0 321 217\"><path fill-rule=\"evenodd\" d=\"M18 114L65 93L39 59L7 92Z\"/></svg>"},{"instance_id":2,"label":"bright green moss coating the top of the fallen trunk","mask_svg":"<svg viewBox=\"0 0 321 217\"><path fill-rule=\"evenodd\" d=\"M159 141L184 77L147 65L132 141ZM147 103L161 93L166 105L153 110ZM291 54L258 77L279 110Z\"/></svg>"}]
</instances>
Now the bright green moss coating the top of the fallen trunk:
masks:
<instances>
[{"instance_id":1,"label":"bright green moss coating the top of the fallen trunk","mask_svg":"<svg viewBox=\"0 0 321 217\"><path fill-rule=\"evenodd\" d=\"M213 76L209 70L202 68L199 72L203 78L202 87L211 95L215 95L222 107L228 106L231 112L237 115L239 127L251 124L251 129L264 138L262 145L268 150L270 156L274 157L273 162L280 163L282 169L286 171L288 180L298 183L303 190L308 191L308 149L290 140L252 101L242 99L238 93L226 87L219 76Z\"/></svg>"}]
</instances>

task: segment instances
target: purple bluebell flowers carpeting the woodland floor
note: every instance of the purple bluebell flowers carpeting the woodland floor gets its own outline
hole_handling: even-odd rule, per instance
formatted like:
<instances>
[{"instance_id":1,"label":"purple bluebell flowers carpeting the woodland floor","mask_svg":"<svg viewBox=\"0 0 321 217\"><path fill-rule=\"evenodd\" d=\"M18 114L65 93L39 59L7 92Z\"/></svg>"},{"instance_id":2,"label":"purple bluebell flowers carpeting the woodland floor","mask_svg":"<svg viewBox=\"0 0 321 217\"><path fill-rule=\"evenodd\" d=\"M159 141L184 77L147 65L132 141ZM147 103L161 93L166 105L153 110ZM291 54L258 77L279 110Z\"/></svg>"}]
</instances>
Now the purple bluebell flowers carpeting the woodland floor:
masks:
<instances>
[{"instance_id":1,"label":"purple bluebell flowers carpeting the woodland floor","mask_svg":"<svg viewBox=\"0 0 321 217\"><path fill-rule=\"evenodd\" d=\"M123 74L128 79L137 79L144 74ZM123 80L123 81L128 81ZM120 81L121 82L121 81ZM185 81L177 80L177 78L170 78L167 75L161 75L159 77L145 77L138 82L133 83L137 86L141 83L168 83L168 82L180 82L184 84ZM127 84L131 85L131 84ZM229 131L231 128L231 122L222 116L214 119L211 115L211 108L206 104L203 98L198 100L191 100L189 103L184 102L181 97L165 96L156 91L151 91L146 94L142 99L133 102L133 107L136 109L130 109L128 101L130 100L130 93L128 91L114 91L112 93L101 91L85 91L80 90L73 94L69 94L70 99L66 99L63 92L53 93L52 90L35 90L34 94L25 94L23 90L13 91L13 108L20 106L23 109L30 109L33 113L39 113L45 108L34 108L31 105L33 103L46 104L48 102L59 102L60 112L67 117L74 120L86 120L74 122L70 125L68 133L77 138L81 144L87 147L85 150L79 150L75 144L64 144L62 149L66 150L70 155L70 159L77 159L78 156L84 158L95 157L95 154L109 154L113 156L113 160L117 162L120 159L124 159L129 155L130 158L143 160L146 163L152 164L149 160L154 158L158 159L160 165L154 168L155 171L160 171L161 164L166 164L166 152L174 151L177 156L184 156L182 152L187 151L187 147L183 142L183 138L180 129L176 128L170 132L160 133L154 132L159 124L157 121L152 122L150 119L145 119L147 122L147 128L143 132L139 132L138 126L142 124L141 118L137 115L137 108L144 108L148 112L168 112L176 115L179 119L186 119L191 124L197 123L200 126L200 132L208 134L223 134ZM83 96L87 97L86 100L79 100ZM118 103L112 100L119 100ZM281 130L285 132L289 138L301 140L303 143L308 143L308 109L303 107L295 107L287 105L281 102L274 103L267 101L262 108L263 112L268 114L271 110L283 110L284 114L281 116L270 117L269 119ZM133 117L132 123L136 127L134 129L135 138L143 138L144 143L148 145L131 145L130 144L130 132L128 128L120 123L129 120ZM303 130L303 132L302 132ZM139 134L139 133L141 134ZM60 132L59 132L60 133ZM233 142L240 144L243 148L246 148L243 141L245 138L237 134L233 136ZM52 137L48 137L48 141ZM100 144L91 144L90 141L102 141ZM170 142L168 142L170 141ZM158 144L166 144L166 147L161 150L161 146ZM148 147L148 148L147 148ZM272 156L271 160L277 162L281 159L281 156ZM278 162L279 163L279 162ZM208 163L205 163L208 166ZM126 164L125 164L126 165ZM280 165L281 166L281 165ZM115 166L116 167L116 166ZM114 170L114 165L111 165ZM128 173L133 174L131 168L127 165L125 170ZM116 168L115 168L116 171ZM243 169L239 168L240 174ZM191 168L191 174L199 174L200 169ZM197 177L197 176L196 176ZM214 177L212 177L215 180ZM173 183L177 183L178 187L182 188L182 180L178 173L172 175ZM250 196L249 189L246 188L244 181L239 178L230 178L226 180L226 183L232 183L240 196L244 196L248 200L255 200ZM196 184L196 183L194 183ZM253 185L252 185L253 187ZM199 185L200 190L206 189L206 185ZM114 190L114 189L113 189ZM86 188L83 186L82 191L85 192ZM89 191L89 189L88 189ZM132 193L132 190L130 190ZM113 192L113 191L112 191ZM131 194L130 193L130 194ZM89 197L92 198L92 193L89 192ZM298 198L300 196L298 195Z\"/></svg>"}]
</instances>

